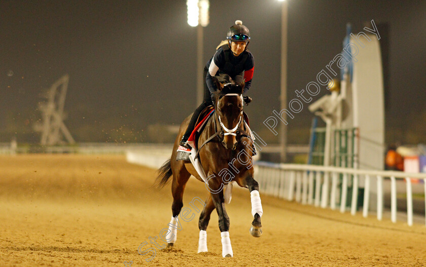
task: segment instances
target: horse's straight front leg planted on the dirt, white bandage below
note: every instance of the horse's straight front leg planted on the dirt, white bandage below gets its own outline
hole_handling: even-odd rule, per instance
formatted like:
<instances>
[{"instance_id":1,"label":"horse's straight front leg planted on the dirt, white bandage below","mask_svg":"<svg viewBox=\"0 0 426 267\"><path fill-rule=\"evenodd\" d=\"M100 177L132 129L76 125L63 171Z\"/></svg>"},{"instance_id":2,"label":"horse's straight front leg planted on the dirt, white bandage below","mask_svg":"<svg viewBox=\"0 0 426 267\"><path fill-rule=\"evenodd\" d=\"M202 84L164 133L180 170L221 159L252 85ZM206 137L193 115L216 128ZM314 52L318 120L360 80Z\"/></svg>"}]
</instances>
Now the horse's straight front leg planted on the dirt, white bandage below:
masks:
<instances>
[{"instance_id":1,"label":"horse's straight front leg planted on the dirt, white bandage below","mask_svg":"<svg viewBox=\"0 0 426 267\"><path fill-rule=\"evenodd\" d=\"M217 177L220 178L219 176ZM210 179L210 181L211 180L213 179ZM221 231L222 239L222 257L232 257L234 253L232 252L231 239L229 238L229 217L225 210L223 185L220 179L215 180L216 181L209 182L209 188L213 189L210 190L211 199L215 204L219 217L219 230Z\"/></svg>"}]
</instances>

